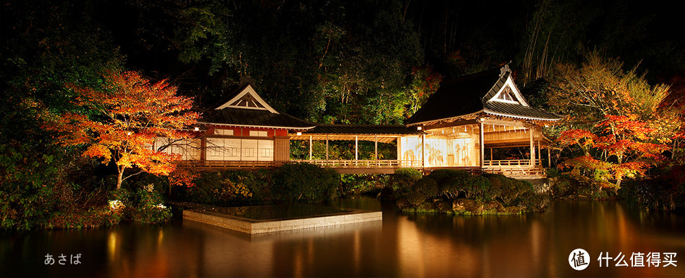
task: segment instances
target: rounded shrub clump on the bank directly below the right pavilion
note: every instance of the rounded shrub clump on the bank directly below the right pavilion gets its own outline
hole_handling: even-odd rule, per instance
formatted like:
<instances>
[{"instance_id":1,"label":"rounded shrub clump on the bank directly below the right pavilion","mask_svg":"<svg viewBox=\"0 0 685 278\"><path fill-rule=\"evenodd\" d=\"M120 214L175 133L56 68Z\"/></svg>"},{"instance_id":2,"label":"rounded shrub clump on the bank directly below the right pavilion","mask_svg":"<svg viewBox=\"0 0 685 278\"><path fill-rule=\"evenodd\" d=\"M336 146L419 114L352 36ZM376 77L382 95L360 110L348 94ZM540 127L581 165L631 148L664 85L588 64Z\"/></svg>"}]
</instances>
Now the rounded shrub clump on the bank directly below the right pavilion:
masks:
<instances>
[{"instance_id":1,"label":"rounded shrub clump on the bank directly below the right pavilion","mask_svg":"<svg viewBox=\"0 0 685 278\"><path fill-rule=\"evenodd\" d=\"M544 212L550 201L528 181L451 169L435 170L426 177L418 170L398 169L392 196L402 212L460 215Z\"/></svg>"}]
</instances>

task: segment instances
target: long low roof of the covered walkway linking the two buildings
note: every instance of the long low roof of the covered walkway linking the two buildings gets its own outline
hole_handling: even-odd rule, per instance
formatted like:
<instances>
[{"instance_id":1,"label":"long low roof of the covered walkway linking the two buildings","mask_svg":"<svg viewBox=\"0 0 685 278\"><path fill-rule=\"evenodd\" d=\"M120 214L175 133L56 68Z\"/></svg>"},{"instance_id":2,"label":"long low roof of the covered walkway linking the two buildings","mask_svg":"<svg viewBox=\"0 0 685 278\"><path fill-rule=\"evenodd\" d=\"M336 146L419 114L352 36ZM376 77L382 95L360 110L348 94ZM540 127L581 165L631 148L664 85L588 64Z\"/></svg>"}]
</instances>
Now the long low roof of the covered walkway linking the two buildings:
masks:
<instances>
[{"instance_id":1,"label":"long low roof of the covered walkway linking the two buildings","mask_svg":"<svg viewBox=\"0 0 685 278\"><path fill-rule=\"evenodd\" d=\"M420 135L423 131L405 125L317 125L303 134Z\"/></svg>"}]
</instances>

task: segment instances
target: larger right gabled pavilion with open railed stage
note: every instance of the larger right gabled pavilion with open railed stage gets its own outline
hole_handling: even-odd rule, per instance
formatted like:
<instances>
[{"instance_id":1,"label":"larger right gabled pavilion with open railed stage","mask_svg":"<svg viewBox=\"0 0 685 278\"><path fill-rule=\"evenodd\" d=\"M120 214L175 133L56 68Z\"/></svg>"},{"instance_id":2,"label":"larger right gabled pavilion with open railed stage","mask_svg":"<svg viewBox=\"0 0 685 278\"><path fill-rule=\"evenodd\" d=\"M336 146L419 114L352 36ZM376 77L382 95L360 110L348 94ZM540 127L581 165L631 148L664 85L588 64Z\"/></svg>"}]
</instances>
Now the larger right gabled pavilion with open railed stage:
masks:
<instances>
[{"instance_id":1,"label":"larger right gabled pavilion with open railed stage","mask_svg":"<svg viewBox=\"0 0 685 278\"><path fill-rule=\"evenodd\" d=\"M531 107L504 65L443 81L407 121L426 135L401 138L398 151L402 159L421 157L424 168L475 166L530 177L542 173L540 149L549 142L541 127L559 119ZM529 157L493 159L494 148L511 147L528 147Z\"/></svg>"}]
</instances>

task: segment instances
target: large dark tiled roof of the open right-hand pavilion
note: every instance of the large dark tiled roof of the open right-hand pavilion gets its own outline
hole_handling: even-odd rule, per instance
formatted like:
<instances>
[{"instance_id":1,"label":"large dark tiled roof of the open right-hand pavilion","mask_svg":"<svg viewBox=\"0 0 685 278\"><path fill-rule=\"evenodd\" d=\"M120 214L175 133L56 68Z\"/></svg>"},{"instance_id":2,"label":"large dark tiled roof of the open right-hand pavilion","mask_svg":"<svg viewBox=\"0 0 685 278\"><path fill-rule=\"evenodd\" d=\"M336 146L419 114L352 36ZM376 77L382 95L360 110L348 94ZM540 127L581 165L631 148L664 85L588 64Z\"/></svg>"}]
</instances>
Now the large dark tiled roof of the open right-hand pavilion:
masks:
<instances>
[{"instance_id":1,"label":"large dark tiled roof of the open right-hand pavilion","mask_svg":"<svg viewBox=\"0 0 685 278\"><path fill-rule=\"evenodd\" d=\"M518 104L487 102L506 84L511 75L508 65L487 71L443 81L440 88L429 97L408 120L408 125L440 121L484 111L499 116L532 118L555 121L555 114ZM506 114L506 115L504 115Z\"/></svg>"}]
</instances>

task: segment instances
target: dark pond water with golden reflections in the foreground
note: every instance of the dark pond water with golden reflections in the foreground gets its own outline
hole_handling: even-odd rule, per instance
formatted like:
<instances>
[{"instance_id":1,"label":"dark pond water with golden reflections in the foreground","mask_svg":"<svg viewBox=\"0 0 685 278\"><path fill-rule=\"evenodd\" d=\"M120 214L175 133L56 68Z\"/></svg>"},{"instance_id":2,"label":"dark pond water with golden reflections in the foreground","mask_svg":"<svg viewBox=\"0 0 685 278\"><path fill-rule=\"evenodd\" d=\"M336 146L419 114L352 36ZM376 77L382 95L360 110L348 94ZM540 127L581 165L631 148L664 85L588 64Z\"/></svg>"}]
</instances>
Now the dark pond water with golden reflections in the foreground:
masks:
<instances>
[{"instance_id":1,"label":"dark pond water with golden reflections in the foreground","mask_svg":"<svg viewBox=\"0 0 685 278\"><path fill-rule=\"evenodd\" d=\"M339 206L383 210L383 221L260 236L181 220L3 235L0 277L685 277L685 218L621 203L470 217L403 215L375 199ZM577 248L590 255L585 270L569 266ZM629 266L600 268L600 252L627 254ZM677 253L677 266L632 267L638 252ZM45 265L47 254L66 255L66 265Z\"/></svg>"}]
</instances>

